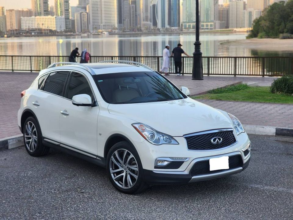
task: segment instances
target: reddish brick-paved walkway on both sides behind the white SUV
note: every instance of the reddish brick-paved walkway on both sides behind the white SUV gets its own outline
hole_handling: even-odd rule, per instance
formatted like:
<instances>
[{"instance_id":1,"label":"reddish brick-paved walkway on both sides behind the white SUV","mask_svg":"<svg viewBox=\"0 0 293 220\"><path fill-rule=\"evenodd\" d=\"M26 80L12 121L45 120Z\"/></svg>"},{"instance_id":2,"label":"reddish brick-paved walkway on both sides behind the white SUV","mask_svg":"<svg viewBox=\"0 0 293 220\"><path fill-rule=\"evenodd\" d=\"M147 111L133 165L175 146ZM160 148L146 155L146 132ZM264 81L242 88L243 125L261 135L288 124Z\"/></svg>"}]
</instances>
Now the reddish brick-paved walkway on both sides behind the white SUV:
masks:
<instances>
[{"instance_id":1,"label":"reddish brick-paved walkway on both sides behind the white SUV","mask_svg":"<svg viewBox=\"0 0 293 220\"><path fill-rule=\"evenodd\" d=\"M17 125L20 93L31 85L37 75L36 72L0 72L0 138L21 134ZM190 75L170 75L168 78L177 86L187 86L192 95L203 94L208 90L233 85L241 81L259 82L261 85L269 85L273 81L273 78L267 77L238 76L204 76L204 80L191 80ZM244 124L293 127L292 111L290 113L293 105L243 104L243 102L235 102L235 104L234 102L224 101L204 102L235 114L239 119L242 119ZM265 116L267 116L266 119ZM251 120L246 122L246 117L251 118ZM288 123L286 121L280 123L283 119L286 119Z\"/></svg>"}]
</instances>

